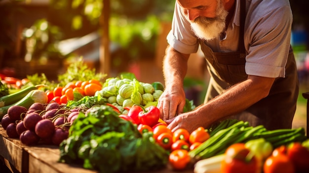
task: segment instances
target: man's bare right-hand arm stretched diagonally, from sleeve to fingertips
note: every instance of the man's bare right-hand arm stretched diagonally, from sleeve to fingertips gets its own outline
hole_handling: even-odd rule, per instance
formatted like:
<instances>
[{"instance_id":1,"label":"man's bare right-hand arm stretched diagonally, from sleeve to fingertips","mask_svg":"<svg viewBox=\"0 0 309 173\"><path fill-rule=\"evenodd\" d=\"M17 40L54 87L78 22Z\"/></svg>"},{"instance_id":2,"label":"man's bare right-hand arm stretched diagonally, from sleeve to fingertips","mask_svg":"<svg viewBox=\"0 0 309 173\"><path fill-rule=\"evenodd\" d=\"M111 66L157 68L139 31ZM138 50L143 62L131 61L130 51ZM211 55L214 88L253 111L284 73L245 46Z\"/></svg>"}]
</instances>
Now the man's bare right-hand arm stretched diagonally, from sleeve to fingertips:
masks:
<instances>
[{"instance_id":1,"label":"man's bare right-hand arm stretched diagonally, from sleeve to fingertips","mask_svg":"<svg viewBox=\"0 0 309 173\"><path fill-rule=\"evenodd\" d=\"M233 85L221 95L195 110L180 114L167 121L172 131L185 128L193 131L197 127L209 127L224 117L239 113L268 96L274 78L249 75L248 79Z\"/></svg>"}]
</instances>

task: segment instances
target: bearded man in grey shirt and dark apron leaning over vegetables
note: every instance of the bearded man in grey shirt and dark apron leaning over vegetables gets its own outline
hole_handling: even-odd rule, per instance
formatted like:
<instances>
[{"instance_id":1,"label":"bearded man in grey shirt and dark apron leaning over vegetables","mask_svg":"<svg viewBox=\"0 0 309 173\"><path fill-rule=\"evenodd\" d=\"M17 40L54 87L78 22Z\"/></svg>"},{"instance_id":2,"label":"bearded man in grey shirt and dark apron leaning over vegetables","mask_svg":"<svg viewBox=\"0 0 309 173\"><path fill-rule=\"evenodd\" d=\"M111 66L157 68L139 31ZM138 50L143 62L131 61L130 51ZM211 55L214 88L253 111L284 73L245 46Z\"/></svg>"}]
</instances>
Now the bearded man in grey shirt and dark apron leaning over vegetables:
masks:
<instances>
[{"instance_id":1,"label":"bearded man in grey shirt and dark apron leaning over vegetables","mask_svg":"<svg viewBox=\"0 0 309 173\"><path fill-rule=\"evenodd\" d=\"M161 118L175 131L225 118L291 128L298 97L288 0L176 0L163 60ZM204 104L182 113L191 53L201 47L210 73Z\"/></svg>"}]
</instances>

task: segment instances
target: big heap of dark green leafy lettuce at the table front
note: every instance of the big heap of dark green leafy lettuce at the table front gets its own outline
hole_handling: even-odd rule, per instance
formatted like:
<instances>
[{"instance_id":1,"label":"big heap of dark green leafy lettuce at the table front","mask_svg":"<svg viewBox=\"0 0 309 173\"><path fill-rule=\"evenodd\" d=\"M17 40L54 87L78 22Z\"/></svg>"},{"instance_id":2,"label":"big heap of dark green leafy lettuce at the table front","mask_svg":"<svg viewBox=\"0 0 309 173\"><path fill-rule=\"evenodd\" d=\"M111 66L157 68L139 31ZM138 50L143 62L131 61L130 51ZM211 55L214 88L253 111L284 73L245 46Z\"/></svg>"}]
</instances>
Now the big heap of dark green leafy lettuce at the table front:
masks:
<instances>
[{"instance_id":1,"label":"big heap of dark green leafy lettuce at the table front","mask_svg":"<svg viewBox=\"0 0 309 173\"><path fill-rule=\"evenodd\" d=\"M79 113L59 149L59 162L80 163L100 173L162 169L168 160L152 133L142 136L136 125L107 105Z\"/></svg>"}]
</instances>

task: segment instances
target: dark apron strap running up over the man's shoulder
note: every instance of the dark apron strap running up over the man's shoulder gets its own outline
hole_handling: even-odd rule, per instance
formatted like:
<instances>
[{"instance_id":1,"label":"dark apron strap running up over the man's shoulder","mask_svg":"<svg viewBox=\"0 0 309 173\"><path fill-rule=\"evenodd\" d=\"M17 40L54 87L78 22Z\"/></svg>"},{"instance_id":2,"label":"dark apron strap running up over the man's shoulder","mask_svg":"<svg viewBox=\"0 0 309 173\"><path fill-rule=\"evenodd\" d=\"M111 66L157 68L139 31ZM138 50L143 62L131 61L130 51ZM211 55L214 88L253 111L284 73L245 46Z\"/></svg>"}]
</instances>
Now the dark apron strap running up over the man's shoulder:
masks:
<instances>
[{"instance_id":1,"label":"dark apron strap running up over the man's shoulder","mask_svg":"<svg viewBox=\"0 0 309 173\"><path fill-rule=\"evenodd\" d=\"M240 0L240 28L239 28L239 52L240 58L246 58L246 49L244 43L244 28L246 19L246 0Z\"/></svg>"}]
</instances>

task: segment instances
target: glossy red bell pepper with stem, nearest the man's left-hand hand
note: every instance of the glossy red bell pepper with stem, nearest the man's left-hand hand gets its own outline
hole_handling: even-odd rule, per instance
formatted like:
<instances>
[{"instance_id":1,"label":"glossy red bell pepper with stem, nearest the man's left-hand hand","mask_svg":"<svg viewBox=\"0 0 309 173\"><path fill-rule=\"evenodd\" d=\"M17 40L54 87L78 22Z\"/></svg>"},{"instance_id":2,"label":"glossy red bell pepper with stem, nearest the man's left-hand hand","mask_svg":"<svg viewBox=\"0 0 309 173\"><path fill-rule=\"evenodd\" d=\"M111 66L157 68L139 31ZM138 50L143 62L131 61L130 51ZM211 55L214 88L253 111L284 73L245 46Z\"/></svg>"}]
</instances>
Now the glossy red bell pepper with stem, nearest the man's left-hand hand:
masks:
<instances>
[{"instance_id":1,"label":"glossy red bell pepper with stem, nearest the man's left-hand hand","mask_svg":"<svg viewBox=\"0 0 309 173\"><path fill-rule=\"evenodd\" d=\"M138 114L141 124L146 124L153 127L158 123L160 118L160 110L156 106L149 106L146 109L142 107L142 109L143 111Z\"/></svg>"}]
</instances>

